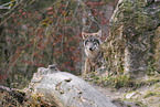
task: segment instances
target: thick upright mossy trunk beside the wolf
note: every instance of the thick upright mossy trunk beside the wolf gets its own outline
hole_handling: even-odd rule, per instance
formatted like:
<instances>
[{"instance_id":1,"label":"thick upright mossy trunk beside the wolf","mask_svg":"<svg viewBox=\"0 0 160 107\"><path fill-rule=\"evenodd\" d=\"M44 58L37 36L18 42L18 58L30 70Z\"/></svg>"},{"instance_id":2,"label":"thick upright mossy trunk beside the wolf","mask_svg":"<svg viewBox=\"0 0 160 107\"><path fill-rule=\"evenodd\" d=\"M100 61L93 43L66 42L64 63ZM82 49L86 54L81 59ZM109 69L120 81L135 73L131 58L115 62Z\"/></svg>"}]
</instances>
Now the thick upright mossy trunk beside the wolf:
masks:
<instances>
[{"instance_id":1,"label":"thick upright mossy trunk beside the wolf","mask_svg":"<svg viewBox=\"0 0 160 107\"><path fill-rule=\"evenodd\" d=\"M137 77L159 72L160 2L119 0L104 43L108 71Z\"/></svg>"}]
</instances>

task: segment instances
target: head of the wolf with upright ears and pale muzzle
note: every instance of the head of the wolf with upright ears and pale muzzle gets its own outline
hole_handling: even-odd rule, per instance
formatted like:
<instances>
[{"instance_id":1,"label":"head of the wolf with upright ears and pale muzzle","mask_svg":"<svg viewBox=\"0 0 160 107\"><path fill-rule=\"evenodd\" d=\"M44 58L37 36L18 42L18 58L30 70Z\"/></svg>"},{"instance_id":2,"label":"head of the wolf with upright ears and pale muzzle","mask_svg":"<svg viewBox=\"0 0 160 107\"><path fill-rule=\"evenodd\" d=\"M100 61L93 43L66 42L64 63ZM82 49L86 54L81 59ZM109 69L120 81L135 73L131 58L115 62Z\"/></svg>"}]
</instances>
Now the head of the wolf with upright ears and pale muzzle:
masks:
<instances>
[{"instance_id":1,"label":"head of the wolf with upright ears and pale muzzle","mask_svg":"<svg viewBox=\"0 0 160 107\"><path fill-rule=\"evenodd\" d=\"M85 33L82 32L83 40L84 40L84 47L85 53L88 58L95 60L99 52L100 52L100 38L102 38L102 30L96 33Z\"/></svg>"}]
</instances>

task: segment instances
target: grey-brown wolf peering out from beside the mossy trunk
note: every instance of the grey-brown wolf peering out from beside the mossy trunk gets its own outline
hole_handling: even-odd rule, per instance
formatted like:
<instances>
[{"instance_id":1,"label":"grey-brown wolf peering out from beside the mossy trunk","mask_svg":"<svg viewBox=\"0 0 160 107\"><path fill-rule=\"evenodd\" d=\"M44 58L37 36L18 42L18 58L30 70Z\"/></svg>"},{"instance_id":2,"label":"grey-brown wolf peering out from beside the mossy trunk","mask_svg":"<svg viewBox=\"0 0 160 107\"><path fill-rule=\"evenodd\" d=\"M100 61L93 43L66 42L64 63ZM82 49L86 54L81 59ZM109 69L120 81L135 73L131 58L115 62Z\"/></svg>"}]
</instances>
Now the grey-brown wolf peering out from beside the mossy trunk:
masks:
<instances>
[{"instance_id":1,"label":"grey-brown wolf peering out from beside the mossy trunk","mask_svg":"<svg viewBox=\"0 0 160 107\"><path fill-rule=\"evenodd\" d=\"M104 52L100 50L103 43L102 30L96 33L82 32L84 40L84 51L86 54L85 66L83 75L97 71L102 65L106 64Z\"/></svg>"}]
</instances>

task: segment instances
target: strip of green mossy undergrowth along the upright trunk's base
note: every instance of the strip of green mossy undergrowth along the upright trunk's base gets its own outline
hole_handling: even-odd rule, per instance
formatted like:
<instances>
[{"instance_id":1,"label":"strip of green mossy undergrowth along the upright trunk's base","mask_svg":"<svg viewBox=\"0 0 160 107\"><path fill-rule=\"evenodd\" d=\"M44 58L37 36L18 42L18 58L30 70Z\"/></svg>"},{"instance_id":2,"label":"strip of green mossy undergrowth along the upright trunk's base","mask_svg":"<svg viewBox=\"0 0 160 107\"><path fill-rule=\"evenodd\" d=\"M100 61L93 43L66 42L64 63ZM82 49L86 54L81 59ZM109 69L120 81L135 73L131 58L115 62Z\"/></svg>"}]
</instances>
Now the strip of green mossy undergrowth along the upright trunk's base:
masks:
<instances>
[{"instance_id":1,"label":"strip of green mossy undergrowth along the upright trunk's base","mask_svg":"<svg viewBox=\"0 0 160 107\"><path fill-rule=\"evenodd\" d=\"M84 79L90 82L93 84L104 86L104 87L111 87L111 88L122 88L128 87L131 89L137 89L141 86L152 85L157 82L160 82L159 75L148 76L148 78L137 79L137 78L129 78L125 75L114 75L110 77L99 77L96 76L95 73L90 73L84 76Z\"/></svg>"}]
</instances>

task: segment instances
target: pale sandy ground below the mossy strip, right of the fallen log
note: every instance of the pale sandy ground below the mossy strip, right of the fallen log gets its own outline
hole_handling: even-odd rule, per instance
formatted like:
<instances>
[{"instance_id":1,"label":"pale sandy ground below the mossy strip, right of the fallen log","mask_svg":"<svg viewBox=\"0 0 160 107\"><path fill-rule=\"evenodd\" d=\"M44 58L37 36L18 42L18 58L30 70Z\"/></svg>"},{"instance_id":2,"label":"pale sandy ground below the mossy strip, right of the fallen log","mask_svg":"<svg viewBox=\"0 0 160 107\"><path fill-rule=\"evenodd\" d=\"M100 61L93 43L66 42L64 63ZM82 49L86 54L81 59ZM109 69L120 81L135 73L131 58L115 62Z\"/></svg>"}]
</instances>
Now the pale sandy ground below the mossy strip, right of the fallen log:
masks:
<instances>
[{"instance_id":1,"label":"pale sandy ground below the mossy strip, right of the fallen log","mask_svg":"<svg viewBox=\"0 0 160 107\"><path fill-rule=\"evenodd\" d=\"M130 87L113 88L93 84L102 94L118 107L160 107L160 75L146 79L149 84L136 89Z\"/></svg>"}]
</instances>

